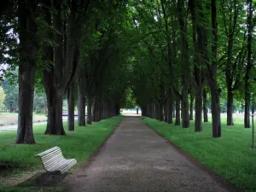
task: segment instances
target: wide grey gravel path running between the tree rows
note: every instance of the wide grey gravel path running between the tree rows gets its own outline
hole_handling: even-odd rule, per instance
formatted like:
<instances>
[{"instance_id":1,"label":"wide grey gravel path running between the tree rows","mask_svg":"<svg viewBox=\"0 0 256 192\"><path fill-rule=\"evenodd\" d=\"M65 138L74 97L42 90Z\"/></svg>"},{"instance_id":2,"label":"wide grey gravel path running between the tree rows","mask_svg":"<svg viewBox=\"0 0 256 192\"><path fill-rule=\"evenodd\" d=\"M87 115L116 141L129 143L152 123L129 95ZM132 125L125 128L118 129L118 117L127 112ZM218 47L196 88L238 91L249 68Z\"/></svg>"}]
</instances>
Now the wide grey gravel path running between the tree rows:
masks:
<instances>
[{"instance_id":1,"label":"wide grey gravel path running between the tree rows","mask_svg":"<svg viewBox=\"0 0 256 192\"><path fill-rule=\"evenodd\" d=\"M137 117L124 117L87 166L65 179L70 192L227 192Z\"/></svg>"}]
</instances>

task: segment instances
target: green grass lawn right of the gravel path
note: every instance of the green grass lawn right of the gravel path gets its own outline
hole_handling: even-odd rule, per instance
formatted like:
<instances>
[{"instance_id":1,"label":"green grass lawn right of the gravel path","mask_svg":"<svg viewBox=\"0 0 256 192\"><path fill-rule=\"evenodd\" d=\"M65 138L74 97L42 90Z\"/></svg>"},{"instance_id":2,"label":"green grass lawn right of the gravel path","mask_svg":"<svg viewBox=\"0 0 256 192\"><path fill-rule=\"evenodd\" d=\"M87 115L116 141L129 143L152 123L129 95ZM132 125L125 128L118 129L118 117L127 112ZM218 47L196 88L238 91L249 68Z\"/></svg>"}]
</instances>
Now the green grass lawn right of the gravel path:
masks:
<instances>
[{"instance_id":1,"label":"green grass lawn right of the gravel path","mask_svg":"<svg viewBox=\"0 0 256 192\"><path fill-rule=\"evenodd\" d=\"M143 121L235 187L256 191L256 148L251 148L252 129L244 129L241 119L234 126L224 125L222 119L222 137L217 139L212 138L210 122L203 123L203 131L195 132L194 121L189 129L155 119Z\"/></svg>"}]
</instances>

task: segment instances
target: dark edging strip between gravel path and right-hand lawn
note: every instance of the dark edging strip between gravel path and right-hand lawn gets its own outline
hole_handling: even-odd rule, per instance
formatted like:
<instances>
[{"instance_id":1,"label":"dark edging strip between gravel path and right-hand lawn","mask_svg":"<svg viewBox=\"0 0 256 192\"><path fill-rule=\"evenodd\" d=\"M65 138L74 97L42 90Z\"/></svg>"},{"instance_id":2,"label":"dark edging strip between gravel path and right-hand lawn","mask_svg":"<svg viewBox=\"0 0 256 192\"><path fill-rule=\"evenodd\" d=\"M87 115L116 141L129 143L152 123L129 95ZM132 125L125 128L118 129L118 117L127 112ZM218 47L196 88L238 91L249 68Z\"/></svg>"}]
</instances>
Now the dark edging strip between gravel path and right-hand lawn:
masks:
<instances>
[{"instance_id":1,"label":"dark edging strip between gravel path and right-hand lawn","mask_svg":"<svg viewBox=\"0 0 256 192\"><path fill-rule=\"evenodd\" d=\"M157 135L164 138L167 143L171 144L172 147L175 148L179 154L182 154L186 160L189 160L189 162L191 162L194 166L200 168L201 171L207 172L213 178L214 181L220 184L221 187L229 190L230 192L245 192L245 189L235 188L230 181L226 180L224 177L219 176L217 172L213 172L210 168L202 164L199 160L196 160L189 153L185 152L182 148L180 148L176 143L173 143L171 140L167 139L159 131L154 130L154 128L148 125L148 123L145 123L143 119L140 120L143 122L144 125L147 125L150 130L154 131Z\"/></svg>"}]
</instances>

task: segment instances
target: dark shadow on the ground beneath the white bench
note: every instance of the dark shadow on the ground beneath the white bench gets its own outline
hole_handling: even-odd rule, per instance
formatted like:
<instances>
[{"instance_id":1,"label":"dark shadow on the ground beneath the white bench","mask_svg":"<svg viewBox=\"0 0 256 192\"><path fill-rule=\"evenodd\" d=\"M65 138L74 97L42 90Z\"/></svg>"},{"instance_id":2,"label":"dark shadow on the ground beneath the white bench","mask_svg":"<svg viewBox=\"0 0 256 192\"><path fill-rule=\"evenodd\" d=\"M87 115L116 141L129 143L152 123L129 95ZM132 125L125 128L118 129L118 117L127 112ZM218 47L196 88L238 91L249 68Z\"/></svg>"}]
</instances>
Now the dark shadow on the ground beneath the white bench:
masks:
<instances>
[{"instance_id":1,"label":"dark shadow on the ground beneath the white bench","mask_svg":"<svg viewBox=\"0 0 256 192\"><path fill-rule=\"evenodd\" d=\"M58 172L38 172L25 182L20 183L18 187L53 187L61 183L61 181L67 177L67 175L68 172L62 174Z\"/></svg>"}]
</instances>

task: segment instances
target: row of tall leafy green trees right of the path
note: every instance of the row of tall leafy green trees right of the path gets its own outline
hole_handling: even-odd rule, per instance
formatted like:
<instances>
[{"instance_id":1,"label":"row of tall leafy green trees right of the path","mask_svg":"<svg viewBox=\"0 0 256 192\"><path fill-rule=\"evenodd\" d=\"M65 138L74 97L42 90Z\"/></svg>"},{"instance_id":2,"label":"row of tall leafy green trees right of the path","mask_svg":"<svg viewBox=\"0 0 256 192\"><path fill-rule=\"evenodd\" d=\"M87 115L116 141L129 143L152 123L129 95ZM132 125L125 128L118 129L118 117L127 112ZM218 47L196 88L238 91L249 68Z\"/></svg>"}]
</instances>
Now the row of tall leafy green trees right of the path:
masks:
<instances>
[{"instance_id":1,"label":"row of tall leafy green trees right of the path","mask_svg":"<svg viewBox=\"0 0 256 192\"><path fill-rule=\"evenodd\" d=\"M244 107L244 127L250 127L253 13L252 0L155 0L137 5L133 21L141 39L134 55L133 90L143 115L172 123L176 109L175 124L180 124L181 111L182 126L188 128L195 108L195 131L202 131L202 111L207 121L210 99L212 137L221 137L220 97L227 103L226 123L234 125L236 96Z\"/></svg>"}]
</instances>

